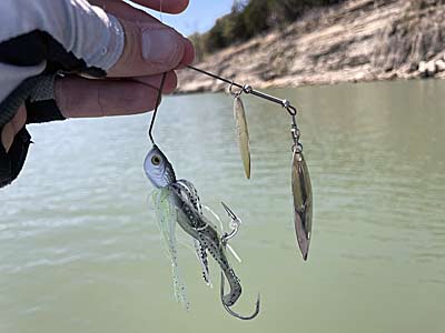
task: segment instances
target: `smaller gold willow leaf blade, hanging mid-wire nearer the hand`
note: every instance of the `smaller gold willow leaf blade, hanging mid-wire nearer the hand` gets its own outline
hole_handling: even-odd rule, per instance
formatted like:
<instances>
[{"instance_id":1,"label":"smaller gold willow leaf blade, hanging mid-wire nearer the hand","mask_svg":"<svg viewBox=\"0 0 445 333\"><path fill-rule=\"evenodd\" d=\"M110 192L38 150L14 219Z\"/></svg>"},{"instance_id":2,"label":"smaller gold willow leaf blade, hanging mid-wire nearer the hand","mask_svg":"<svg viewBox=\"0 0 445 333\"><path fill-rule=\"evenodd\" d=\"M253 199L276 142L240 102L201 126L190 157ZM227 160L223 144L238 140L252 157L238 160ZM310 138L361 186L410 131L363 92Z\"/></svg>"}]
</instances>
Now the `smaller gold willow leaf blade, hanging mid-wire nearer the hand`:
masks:
<instances>
[{"instance_id":1,"label":"smaller gold willow leaf blade, hanging mid-wire nearer the hand","mask_svg":"<svg viewBox=\"0 0 445 333\"><path fill-rule=\"evenodd\" d=\"M243 101L239 97L234 100L234 118L237 130L237 140L239 152L241 154L244 171L246 178L250 179L250 149L249 149L249 131L247 129L246 113Z\"/></svg>"}]
</instances>

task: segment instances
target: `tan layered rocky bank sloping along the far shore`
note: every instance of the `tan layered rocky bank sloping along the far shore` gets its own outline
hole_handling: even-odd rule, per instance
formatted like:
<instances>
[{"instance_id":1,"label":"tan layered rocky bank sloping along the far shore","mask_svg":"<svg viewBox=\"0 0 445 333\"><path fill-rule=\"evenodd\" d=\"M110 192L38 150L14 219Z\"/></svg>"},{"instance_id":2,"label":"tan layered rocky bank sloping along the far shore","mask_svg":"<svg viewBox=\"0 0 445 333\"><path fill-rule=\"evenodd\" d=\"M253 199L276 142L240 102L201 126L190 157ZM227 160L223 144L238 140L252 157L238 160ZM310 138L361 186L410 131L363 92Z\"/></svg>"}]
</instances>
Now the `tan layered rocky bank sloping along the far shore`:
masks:
<instances>
[{"instance_id":1,"label":"tan layered rocky bank sloping along the far shore","mask_svg":"<svg viewBox=\"0 0 445 333\"><path fill-rule=\"evenodd\" d=\"M208 56L196 67L255 88L445 78L445 3L350 0ZM227 85L191 70L178 92Z\"/></svg>"}]
</instances>

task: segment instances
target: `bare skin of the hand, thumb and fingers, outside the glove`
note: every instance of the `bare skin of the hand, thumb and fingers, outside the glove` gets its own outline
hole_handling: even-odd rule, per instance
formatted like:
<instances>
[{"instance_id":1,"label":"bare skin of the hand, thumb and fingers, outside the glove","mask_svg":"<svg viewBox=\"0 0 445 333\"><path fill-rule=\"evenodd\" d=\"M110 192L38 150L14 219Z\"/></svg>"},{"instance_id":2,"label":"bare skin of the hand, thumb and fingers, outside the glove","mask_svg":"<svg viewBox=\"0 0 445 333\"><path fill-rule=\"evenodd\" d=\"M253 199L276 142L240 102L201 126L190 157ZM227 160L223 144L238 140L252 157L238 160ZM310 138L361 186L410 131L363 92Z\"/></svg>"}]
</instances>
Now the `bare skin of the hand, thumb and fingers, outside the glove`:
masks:
<instances>
[{"instance_id":1,"label":"bare skin of the hand, thumb and fingers, outside the glove","mask_svg":"<svg viewBox=\"0 0 445 333\"><path fill-rule=\"evenodd\" d=\"M152 110L160 85L161 74L167 72L162 92L175 90L174 72L194 60L194 47L172 28L165 26L144 11L120 0L90 0L93 6L113 14L121 22L126 42L118 62L101 80L62 78L55 83L56 102L66 118L135 114ZM142 6L179 13L188 0L135 0ZM117 80L119 79L119 80ZM1 143L8 151L13 137L24 125L24 105L4 125Z\"/></svg>"}]
</instances>

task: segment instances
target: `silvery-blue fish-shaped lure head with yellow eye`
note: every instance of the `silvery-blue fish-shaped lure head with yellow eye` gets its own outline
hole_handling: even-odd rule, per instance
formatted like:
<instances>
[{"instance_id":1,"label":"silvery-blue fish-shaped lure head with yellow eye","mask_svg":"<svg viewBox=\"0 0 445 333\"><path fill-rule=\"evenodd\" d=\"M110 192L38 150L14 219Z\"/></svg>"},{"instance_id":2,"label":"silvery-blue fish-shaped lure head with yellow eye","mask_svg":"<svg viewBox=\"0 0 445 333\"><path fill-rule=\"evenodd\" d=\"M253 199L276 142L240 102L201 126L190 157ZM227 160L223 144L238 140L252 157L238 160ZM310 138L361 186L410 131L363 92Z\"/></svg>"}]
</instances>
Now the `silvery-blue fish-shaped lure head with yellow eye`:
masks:
<instances>
[{"instance_id":1,"label":"silvery-blue fish-shaped lure head with yellow eye","mask_svg":"<svg viewBox=\"0 0 445 333\"><path fill-rule=\"evenodd\" d=\"M144 170L156 188L165 188L176 182L174 167L156 144L146 157Z\"/></svg>"}]
</instances>

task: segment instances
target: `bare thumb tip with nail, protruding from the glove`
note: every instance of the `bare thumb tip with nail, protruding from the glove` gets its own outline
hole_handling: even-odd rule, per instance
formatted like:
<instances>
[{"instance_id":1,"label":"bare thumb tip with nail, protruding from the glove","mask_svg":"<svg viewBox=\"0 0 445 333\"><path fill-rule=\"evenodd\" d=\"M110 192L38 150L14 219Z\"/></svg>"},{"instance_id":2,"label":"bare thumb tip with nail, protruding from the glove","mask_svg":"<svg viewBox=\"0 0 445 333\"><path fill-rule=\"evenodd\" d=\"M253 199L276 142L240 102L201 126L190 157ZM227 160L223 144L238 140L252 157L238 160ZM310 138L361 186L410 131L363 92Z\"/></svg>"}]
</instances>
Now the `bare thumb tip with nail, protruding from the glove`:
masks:
<instances>
[{"instance_id":1,"label":"bare thumb tip with nail, protruding from the glove","mask_svg":"<svg viewBox=\"0 0 445 333\"><path fill-rule=\"evenodd\" d=\"M194 59L190 41L158 21L120 20L126 36L123 52L109 77L147 77L171 71Z\"/></svg>"}]
</instances>

